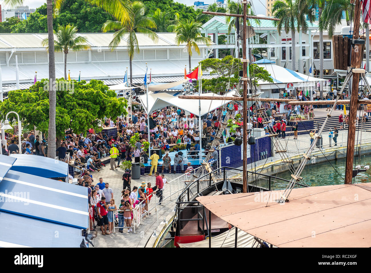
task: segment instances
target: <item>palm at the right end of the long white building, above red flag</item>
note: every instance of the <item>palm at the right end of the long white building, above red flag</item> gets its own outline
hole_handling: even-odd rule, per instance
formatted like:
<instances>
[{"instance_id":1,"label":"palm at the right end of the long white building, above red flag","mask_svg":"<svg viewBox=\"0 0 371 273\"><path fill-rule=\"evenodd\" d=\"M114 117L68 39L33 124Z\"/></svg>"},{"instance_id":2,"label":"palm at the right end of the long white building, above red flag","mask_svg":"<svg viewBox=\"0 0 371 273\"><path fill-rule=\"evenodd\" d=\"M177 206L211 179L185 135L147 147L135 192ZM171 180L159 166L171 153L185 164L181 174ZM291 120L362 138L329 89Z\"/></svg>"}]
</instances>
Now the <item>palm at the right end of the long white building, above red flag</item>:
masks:
<instances>
[{"instance_id":1,"label":"palm at the right end of the long white building, above red flag","mask_svg":"<svg viewBox=\"0 0 371 273\"><path fill-rule=\"evenodd\" d=\"M175 42L178 45L185 44L188 49L188 64L189 69L191 70L191 56L192 56L192 48L196 51L198 55L200 55L200 49L198 48L197 43L204 43L206 45L211 44L211 40L209 37L201 36L201 23L195 22L194 20L184 20L177 24L174 29L174 32L177 34L175 36Z\"/></svg>"}]
</instances>

